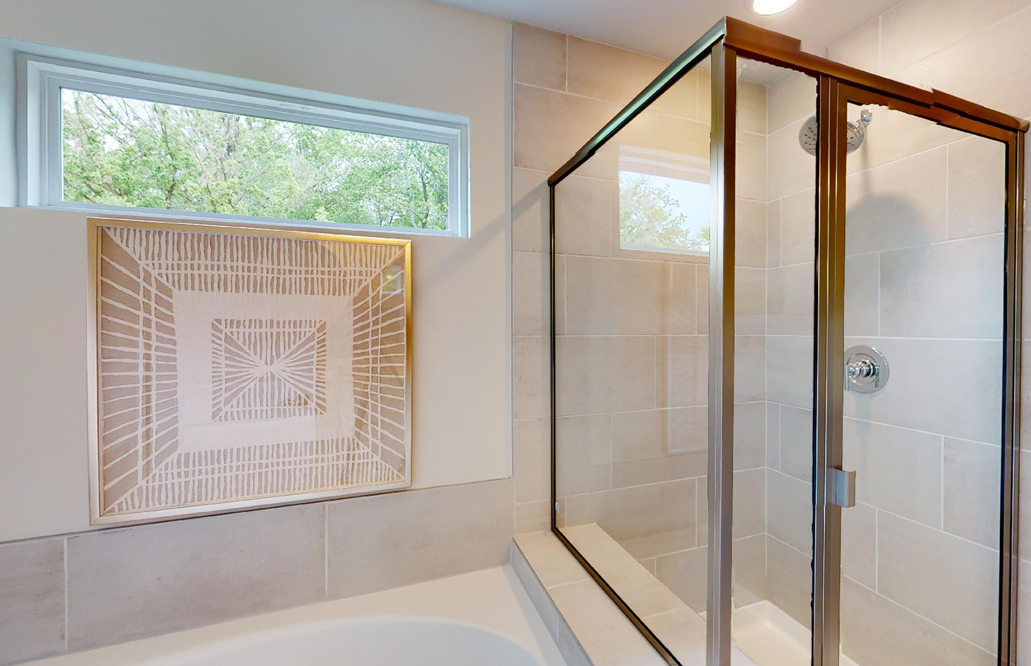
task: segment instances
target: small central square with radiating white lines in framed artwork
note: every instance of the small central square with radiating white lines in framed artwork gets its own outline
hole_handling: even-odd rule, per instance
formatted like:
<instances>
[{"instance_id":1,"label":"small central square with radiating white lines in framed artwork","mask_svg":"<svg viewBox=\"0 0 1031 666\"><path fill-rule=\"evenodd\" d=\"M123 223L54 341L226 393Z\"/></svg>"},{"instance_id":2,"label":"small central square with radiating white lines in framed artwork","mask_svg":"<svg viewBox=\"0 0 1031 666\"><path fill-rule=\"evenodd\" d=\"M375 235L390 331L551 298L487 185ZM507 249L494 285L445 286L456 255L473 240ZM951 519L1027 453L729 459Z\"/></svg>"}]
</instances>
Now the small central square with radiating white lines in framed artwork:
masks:
<instances>
[{"instance_id":1,"label":"small central square with radiating white lines in framed artwork","mask_svg":"<svg viewBox=\"0 0 1031 666\"><path fill-rule=\"evenodd\" d=\"M326 413L326 322L211 322L211 420Z\"/></svg>"}]
</instances>

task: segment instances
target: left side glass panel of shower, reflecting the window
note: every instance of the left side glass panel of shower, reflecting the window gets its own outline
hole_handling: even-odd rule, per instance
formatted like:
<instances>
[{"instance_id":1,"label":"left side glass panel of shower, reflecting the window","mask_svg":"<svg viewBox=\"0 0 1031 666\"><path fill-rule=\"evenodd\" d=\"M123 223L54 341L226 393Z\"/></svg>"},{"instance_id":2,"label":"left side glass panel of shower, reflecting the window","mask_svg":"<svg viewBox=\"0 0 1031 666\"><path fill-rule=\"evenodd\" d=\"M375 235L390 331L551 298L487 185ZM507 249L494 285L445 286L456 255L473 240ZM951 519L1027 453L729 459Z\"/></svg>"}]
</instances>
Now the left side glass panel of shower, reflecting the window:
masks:
<instances>
[{"instance_id":1,"label":"left side glass panel of shower, reflecting the window","mask_svg":"<svg viewBox=\"0 0 1031 666\"><path fill-rule=\"evenodd\" d=\"M709 89L689 71L555 191L558 525L683 663L705 656Z\"/></svg>"}]
</instances>

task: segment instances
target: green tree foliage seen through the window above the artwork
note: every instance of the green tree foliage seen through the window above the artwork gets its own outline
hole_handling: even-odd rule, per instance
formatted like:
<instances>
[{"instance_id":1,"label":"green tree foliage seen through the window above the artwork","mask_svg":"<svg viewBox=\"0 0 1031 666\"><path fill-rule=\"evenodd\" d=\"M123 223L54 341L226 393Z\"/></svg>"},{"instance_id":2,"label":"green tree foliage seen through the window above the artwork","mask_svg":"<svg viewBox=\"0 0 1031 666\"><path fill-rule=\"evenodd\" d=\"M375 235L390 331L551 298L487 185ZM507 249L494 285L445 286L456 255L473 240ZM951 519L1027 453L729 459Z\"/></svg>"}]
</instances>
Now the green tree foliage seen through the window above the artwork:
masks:
<instances>
[{"instance_id":1,"label":"green tree foliage seen through the window above the artwork","mask_svg":"<svg viewBox=\"0 0 1031 666\"><path fill-rule=\"evenodd\" d=\"M445 230L448 146L64 88L62 199Z\"/></svg>"}]
</instances>

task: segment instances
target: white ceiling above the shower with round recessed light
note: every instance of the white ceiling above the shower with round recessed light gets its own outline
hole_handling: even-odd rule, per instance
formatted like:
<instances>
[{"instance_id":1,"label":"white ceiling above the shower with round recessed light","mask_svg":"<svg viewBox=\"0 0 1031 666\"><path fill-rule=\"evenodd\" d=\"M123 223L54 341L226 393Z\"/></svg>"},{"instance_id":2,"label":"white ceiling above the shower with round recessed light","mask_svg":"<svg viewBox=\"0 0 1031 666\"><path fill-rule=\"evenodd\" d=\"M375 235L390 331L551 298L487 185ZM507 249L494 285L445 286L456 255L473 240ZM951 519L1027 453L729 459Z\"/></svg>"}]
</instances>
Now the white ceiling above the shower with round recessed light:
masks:
<instances>
[{"instance_id":1,"label":"white ceiling above the shower with round recessed light","mask_svg":"<svg viewBox=\"0 0 1031 666\"><path fill-rule=\"evenodd\" d=\"M900 0L798 0L773 16L750 0L440 0L672 60L722 16L729 15L802 40L824 56L827 46Z\"/></svg>"}]
</instances>

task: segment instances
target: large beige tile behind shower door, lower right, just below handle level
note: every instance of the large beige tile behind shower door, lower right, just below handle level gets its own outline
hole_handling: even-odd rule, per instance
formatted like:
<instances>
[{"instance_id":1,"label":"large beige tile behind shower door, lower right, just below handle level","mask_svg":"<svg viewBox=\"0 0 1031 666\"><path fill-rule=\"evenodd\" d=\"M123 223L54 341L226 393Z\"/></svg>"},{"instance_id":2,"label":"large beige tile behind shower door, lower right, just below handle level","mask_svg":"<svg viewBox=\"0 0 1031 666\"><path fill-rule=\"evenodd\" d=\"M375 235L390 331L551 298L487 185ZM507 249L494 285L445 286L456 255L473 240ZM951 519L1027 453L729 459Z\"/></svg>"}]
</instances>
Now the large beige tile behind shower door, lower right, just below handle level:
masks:
<instances>
[{"instance_id":1,"label":"large beige tile behind shower door, lower right, just below handle level","mask_svg":"<svg viewBox=\"0 0 1031 666\"><path fill-rule=\"evenodd\" d=\"M996 644L998 582L995 551L877 517L877 591L985 650Z\"/></svg>"}]
</instances>

